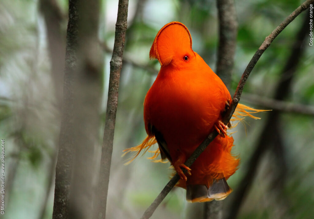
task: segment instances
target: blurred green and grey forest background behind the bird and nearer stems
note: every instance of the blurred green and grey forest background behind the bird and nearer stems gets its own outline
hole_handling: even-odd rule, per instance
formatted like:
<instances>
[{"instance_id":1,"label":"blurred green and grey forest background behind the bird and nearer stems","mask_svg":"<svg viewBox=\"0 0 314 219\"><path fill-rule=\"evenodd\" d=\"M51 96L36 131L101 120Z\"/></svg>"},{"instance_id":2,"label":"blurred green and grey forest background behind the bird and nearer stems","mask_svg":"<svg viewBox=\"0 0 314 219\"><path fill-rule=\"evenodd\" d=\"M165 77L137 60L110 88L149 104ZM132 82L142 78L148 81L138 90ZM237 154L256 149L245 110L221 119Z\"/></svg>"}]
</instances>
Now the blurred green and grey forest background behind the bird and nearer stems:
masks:
<instances>
[{"instance_id":1,"label":"blurred green and grey forest background behind the bird and nearer stems","mask_svg":"<svg viewBox=\"0 0 314 219\"><path fill-rule=\"evenodd\" d=\"M235 1L238 36L231 96L265 37L301 3ZM43 7L47 5L51 8ZM117 7L117 0L101 1L99 40L105 57L99 147ZM63 84L52 74L58 69L51 66L64 68L67 21L65 0L0 0L0 138L6 149L2 218L52 216ZM171 21L187 26L193 50L216 69L216 1L129 1L107 218L140 218L169 181L169 163L150 162L146 154L124 166L128 157L121 155L146 136L143 100L160 68L157 60L149 60L149 49L158 30ZM241 164L228 180L234 192L223 201L224 218L314 217L314 47L308 45L308 21L307 11L288 25L246 83L241 103L275 110L259 113L261 120L246 118L246 128L240 124L230 131L235 132L233 153L241 157ZM58 54L59 60L51 54ZM174 188L152 218L202 218L203 208L187 203L185 190Z\"/></svg>"}]
</instances>

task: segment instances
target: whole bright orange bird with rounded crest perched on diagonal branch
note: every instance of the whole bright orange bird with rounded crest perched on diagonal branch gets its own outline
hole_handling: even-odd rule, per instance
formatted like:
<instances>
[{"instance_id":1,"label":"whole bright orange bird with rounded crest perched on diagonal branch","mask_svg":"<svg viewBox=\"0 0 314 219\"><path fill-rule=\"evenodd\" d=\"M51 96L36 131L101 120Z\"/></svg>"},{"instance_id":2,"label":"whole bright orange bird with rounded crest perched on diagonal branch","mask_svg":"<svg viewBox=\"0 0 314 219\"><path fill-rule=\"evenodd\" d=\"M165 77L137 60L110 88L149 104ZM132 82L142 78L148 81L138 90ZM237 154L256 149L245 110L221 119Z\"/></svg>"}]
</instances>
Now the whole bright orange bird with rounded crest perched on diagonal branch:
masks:
<instances>
[{"instance_id":1,"label":"whole bright orange bird with rounded crest perched on diagonal branch","mask_svg":"<svg viewBox=\"0 0 314 219\"><path fill-rule=\"evenodd\" d=\"M225 199L232 191L226 180L236 172L240 162L230 152L233 138L226 133L230 124L226 126L221 122L231 103L228 89L203 58L192 50L190 32L179 22L161 28L149 57L157 58L161 67L144 101L148 136L142 144L125 151L135 152L134 159L157 141L159 149L153 151L155 154L150 159L160 154L162 160L170 161L180 176L177 186L187 189L187 201ZM241 120L238 116L257 118L250 113L261 111L239 104L234 120ZM184 165L214 129L219 135L191 168ZM187 169L186 175L181 168Z\"/></svg>"}]
</instances>

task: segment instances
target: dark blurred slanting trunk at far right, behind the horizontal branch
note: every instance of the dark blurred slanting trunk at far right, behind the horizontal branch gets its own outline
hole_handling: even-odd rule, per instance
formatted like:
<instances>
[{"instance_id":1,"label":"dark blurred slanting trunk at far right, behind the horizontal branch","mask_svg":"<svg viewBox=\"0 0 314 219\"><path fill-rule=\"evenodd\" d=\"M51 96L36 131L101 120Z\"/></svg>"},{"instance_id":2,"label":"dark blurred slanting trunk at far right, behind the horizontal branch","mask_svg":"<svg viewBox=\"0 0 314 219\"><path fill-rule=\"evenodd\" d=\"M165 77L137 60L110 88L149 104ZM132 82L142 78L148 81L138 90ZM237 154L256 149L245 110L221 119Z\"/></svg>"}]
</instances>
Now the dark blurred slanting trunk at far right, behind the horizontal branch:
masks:
<instances>
[{"instance_id":1,"label":"dark blurred slanting trunk at far right, behind the horizontal branch","mask_svg":"<svg viewBox=\"0 0 314 219\"><path fill-rule=\"evenodd\" d=\"M290 90L293 75L296 72L296 67L300 62L302 53L304 52L304 47L302 47L301 45L302 42L307 37L307 30L308 30L308 16L305 16L303 25L296 37L296 41L291 51L291 55L286 62L280 82L276 89L275 98L279 101L283 100ZM278 146L280 142L280 136L277 134L279 133L278 130L280 130L279 119L280 118L278 111L272 111L269 113L266 125L264 126L264 129L260 134L259 140L257 141L258 145L255 151L253 152L250 161L248 162L246 173L244 177L241 179L238 188L235 190L233 194L233 199L231 201L232 204L230 206L230 209L228 209L227 211L228 215L226 218L232 219L236 217L238 211L240 210L242 200L245 198L247 192L249 191L252 185L254 176L256 174L257 166L265 151L267 151L271 146L272 147Z\"/></svg>"}]
</instances>

